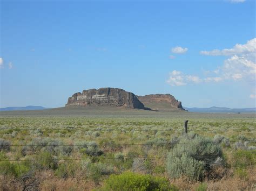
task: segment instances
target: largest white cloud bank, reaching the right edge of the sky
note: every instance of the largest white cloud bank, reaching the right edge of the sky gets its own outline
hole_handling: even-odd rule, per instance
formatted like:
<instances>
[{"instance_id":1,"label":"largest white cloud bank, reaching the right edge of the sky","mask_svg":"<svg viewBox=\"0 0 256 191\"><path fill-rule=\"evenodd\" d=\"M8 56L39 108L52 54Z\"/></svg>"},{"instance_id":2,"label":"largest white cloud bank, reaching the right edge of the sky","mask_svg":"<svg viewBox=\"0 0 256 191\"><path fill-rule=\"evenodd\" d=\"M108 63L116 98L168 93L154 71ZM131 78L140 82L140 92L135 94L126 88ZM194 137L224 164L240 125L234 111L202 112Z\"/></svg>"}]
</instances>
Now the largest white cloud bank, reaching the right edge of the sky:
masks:
<instances>
[{"instance_id":1,"label":"largest white cloud bank, reaching the right edge of the sky","mask_svg":"<svg viewBox=\"0 0 256 191\"><path fill-rule=\"evenodd\" d=\"M171 86L185 86L189 83L208 83L222 81L244 81L251 87L255 87L256 77L256 38L248 40L246 44L236 44L232 48L213 49L201 51L200 54L211 56L228 56L222 66L204 73L205 77L183 74L173 70L167 83ZM252 92L250 98L255 98Z\"/></svg>"}]
</instances>

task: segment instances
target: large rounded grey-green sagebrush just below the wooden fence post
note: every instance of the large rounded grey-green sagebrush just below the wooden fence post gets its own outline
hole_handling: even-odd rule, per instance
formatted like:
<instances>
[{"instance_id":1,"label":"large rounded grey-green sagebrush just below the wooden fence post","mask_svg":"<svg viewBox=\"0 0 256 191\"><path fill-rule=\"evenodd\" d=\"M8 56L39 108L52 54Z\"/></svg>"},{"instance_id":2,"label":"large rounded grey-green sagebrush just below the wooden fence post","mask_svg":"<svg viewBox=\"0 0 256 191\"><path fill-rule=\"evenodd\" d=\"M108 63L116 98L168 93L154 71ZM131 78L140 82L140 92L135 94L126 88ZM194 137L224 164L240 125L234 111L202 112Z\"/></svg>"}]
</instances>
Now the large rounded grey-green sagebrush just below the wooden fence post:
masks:
<instances>
[{"instance_id":1,"label":"large rounded grey-green sagebrush just below the wooden fence post","mask_svg":"<svg viewBox=\"0 0 256 191\"><path fill-rule=\"evenodd\" d=\"M202 180L214 165L224 161L219 144L197 135L181 138L167 156L166 170L171 178L185 175L190 180Z\"/></svg>"}]
</instances>

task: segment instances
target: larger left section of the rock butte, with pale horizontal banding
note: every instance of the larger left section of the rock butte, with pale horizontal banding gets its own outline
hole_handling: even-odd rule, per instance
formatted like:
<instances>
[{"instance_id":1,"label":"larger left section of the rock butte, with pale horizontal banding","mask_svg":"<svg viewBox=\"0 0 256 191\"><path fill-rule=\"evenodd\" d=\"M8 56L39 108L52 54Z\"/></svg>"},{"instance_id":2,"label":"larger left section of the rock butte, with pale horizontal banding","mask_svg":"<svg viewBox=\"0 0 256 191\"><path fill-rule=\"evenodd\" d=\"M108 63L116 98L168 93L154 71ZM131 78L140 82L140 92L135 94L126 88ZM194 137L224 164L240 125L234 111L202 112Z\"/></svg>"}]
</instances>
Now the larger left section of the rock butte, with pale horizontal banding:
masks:
<instances>
[{"instance_id":1,"label":"larger left section of the rock butte, with pale horizontal banding","mask_svg":"<svg viewBox=\"0 0 256 191\"><path fill-rule=\"evenodd\" d=\"M111 105L145 109L144 104L131 92L119 88L100 88L83 90L69 97L68 106Z\"/></svg>"}]
</instances>

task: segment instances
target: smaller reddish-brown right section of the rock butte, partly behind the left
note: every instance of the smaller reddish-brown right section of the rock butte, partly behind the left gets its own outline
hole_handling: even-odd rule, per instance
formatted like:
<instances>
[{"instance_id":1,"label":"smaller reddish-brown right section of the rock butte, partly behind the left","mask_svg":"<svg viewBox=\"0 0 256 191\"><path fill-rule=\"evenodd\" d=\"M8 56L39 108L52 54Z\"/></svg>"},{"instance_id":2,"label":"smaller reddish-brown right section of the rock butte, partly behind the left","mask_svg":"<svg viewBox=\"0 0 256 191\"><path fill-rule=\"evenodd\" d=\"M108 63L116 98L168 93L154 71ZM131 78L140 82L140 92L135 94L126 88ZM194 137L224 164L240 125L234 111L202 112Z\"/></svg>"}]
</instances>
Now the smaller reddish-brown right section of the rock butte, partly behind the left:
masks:
<instances>
[{"instance_id":1,"label":"smaller reddish-brown right section of the rock butte, partly behind the left","mask_svg":"<svg viewBox=\"0 0 256 191\"><path fill-rule=\"evenodd\" d=\"M179 109L184 110L181 102L170 94L151 94L145 96L137 96L139 101L146 107L156 110Z\"/></svg>"}]
</instances>

